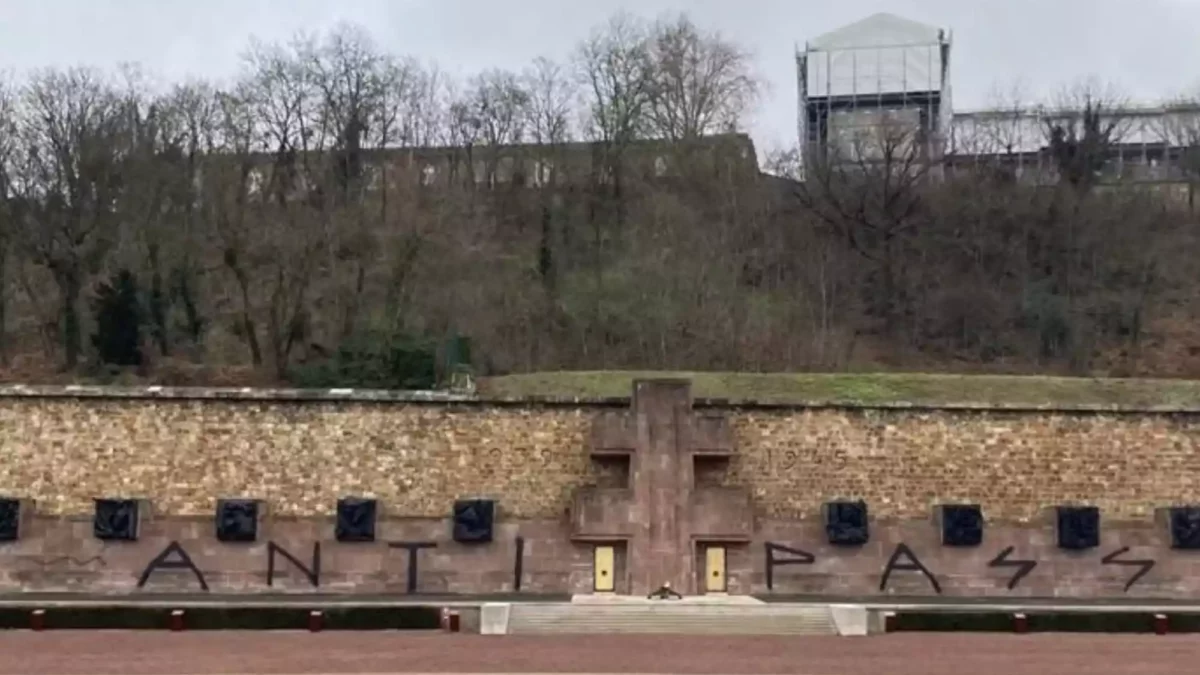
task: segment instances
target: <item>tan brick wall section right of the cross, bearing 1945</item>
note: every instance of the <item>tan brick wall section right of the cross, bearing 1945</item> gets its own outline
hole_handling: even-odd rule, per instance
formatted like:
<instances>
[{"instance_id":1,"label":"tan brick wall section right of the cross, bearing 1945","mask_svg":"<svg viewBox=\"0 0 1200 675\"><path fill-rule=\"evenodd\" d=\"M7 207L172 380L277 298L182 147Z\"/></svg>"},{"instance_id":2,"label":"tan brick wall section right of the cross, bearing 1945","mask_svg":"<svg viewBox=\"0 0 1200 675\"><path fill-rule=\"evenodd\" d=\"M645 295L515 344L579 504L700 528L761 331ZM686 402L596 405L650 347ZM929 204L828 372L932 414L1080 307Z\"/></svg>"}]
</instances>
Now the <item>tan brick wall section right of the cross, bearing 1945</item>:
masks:
<instances>
[{"instance_id":1,"label":"tan brick wall section right of the cross, bearing 1945","mask_svg":"<svg viewBox=\"0 0 1200 675\"><path fill-rule=\"evenodd\" d=\"M731 480L764 515L812 516L863 498L878 518L925 518L979 503L1028 521L1087 502L1106 518L1200 501L1200 416L904 410L743 411Z\"/></svg>"}]
</instances>

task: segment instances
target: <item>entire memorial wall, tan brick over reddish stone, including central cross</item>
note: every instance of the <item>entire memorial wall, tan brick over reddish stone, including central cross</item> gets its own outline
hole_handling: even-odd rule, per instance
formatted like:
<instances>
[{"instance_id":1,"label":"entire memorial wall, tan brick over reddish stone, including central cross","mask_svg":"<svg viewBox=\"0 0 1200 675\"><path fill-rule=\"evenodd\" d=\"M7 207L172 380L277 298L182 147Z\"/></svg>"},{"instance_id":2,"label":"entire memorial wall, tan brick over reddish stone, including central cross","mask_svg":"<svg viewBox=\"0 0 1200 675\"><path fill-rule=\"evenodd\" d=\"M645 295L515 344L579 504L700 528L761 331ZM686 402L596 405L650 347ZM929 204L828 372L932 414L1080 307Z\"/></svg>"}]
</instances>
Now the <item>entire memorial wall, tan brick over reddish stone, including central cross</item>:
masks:
<instances>
[{"instance_id":1,"label":"entire memorial wall, tan brick over reddish stone, including central cross","mask_svg":"<svg viewBox=\"0 0 1200 675\"><path fill-rule=\"evenodd\" d=\"M593 548L614 545L618 592L698 592L703 549L721 546L738 593L1200 595L1200 557L1156 516L1200 503L1200 411L694 406L685 383L637 387L632 401L0 389L0 496L29 500L0 543L0 591L577 593ZM344 496L379 500L377 542L335 540ZM145 500L137 542L91 536L98 497ZM263 501L257 542L215 539L232 497ZM468 497L498 503L490 544L450 538ZM829 545L822 504L854 498L870 542ZM941 544L943 503L980 504L982 546ZM1064 503L1100 507L1098 549L1057 549Z\"/></svg>"}]
</instances>

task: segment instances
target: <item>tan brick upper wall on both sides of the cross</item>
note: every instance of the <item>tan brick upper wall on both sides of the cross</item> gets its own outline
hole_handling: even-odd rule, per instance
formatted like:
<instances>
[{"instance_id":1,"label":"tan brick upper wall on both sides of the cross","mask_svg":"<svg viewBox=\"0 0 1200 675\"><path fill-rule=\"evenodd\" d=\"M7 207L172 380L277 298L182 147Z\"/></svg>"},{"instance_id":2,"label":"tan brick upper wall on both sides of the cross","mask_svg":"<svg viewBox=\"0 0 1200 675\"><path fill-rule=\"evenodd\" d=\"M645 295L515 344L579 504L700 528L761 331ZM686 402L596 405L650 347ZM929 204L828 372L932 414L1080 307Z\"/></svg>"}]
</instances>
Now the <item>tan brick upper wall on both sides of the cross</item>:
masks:
<instances>
[{"instance_id":1,"label":"tan brick upper wall on both sides of the cross","mask_svg":"<svg viewBox=\"0 0 1200 675\"><path fill-rule=\"evenodd\" d=\"M0 495L53 515L89 514L101 496L148 498L164 515L239 496L328 515L338 496L364 495L402 516L492 496L506 516L558 518L575 488L611 478L587 456L598 405L12 394L0 390ZM812 518L835 497L864 498L878 518L965 501L1014 521L1062 502L1121 519L1200 501L1198 414L715 412L736 455L724 477L697 479L749 488L772 519Z\"/></svg>"}]
</instances>

